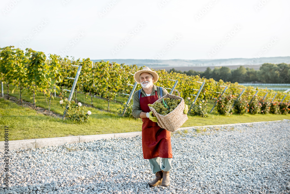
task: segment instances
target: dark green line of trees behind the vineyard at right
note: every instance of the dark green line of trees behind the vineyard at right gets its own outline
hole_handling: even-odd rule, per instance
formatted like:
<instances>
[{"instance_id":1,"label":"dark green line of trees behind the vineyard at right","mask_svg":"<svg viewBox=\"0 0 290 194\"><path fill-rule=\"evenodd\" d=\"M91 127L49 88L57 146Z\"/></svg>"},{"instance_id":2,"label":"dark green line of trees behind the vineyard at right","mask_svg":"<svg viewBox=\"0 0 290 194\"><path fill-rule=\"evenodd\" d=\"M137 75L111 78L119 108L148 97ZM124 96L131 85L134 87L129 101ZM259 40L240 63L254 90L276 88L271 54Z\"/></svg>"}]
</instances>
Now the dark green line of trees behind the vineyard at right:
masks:
<instances>
[{"instance_id":1,"label":"dark green line of trees behind the vineyard at right","mask_svg":"<svg viewBox=\"0 0 290 194\"><path fill-rule=\"evenodd\" d=\"M260 82L260 83L290 83L290 64L280 63L264 63L260 70L254 70L254 68L245 68L240 66L237 69L230 69L229 67L215 67L213 70L207 67L204 72L200 71L180 71L170 69L168 73L176 72L191 75L200 75L206 79L213 78L214 80L228 81L231 83L248 83L248 82Z\"/></svg>"}]
</instances>

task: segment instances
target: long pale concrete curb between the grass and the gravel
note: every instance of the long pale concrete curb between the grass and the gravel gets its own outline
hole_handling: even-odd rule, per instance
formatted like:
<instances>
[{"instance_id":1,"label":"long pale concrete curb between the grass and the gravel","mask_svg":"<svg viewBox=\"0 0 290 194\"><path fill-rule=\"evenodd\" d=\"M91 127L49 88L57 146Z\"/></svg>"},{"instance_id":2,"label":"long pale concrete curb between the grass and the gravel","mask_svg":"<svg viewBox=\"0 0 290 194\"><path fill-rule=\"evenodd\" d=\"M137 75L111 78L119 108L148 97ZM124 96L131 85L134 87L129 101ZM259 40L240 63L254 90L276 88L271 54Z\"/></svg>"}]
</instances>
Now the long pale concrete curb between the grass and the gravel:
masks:
<instances>
[{"instance_id":1,"label":"long pale concrete curb between the grass and the gravel","mask_svg":"<svg viewBox=\"0 0 290 194\"><path fill-rule=\"evenodd\" d=\"M266 122L279 122L282 120L276 121L261 121L261 122L251 122L251 123L234 123L234 124L218 124L218 125L204 125L204 126L195 126L195 127L182 127L177 130L184 129L195 129L195 128L204 128L204 127L223 127L223 126L233 126L233 125L243 125L243 124L254 124L254 123L266 123ZM117 134L99 134L99 135L87 135L87 136L68 136L68 137L55 137L55 138L41 138L41 139L28 139L28 140L12 140L9 141L9 150L17 149L29 149L29 148L40 148L46 146L58 146L64 145L65 143L81 143L81 142L90 142L101 139L108 138L129 138L135 136L142 136L141 131L137 132L128 132L128 133L117 133ZM4 141L0 142L0 152L4 152Z\"/></svg>"}]
</instances>

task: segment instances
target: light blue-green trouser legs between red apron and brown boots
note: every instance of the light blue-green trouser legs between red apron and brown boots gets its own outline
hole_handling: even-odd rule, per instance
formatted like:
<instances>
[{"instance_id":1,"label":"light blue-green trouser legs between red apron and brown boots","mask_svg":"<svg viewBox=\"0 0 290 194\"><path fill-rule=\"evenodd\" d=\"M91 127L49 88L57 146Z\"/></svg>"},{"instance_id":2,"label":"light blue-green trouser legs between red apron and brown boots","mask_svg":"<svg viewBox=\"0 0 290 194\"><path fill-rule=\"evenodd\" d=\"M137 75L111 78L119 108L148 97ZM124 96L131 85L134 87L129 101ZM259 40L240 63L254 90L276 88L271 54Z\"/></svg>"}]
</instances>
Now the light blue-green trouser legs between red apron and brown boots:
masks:
<instances>
[{"instance_id":1,"label":"light blue-green trouser legs between red apron and brown boots","mask_svg":"<svg viewBox=\"0 0 290 194\"><path fill-rule=\"evenodd\" d=\"M161 171L161 170L169 171L172 168L172 166L171 166L172 158L157 157L157 158L152 158L152 159L148 159L148 160L149 160L151 170L154 174L156 172ZM161 164L161 160L162 160L162 164Z\"/></svg>"}]
</instances>

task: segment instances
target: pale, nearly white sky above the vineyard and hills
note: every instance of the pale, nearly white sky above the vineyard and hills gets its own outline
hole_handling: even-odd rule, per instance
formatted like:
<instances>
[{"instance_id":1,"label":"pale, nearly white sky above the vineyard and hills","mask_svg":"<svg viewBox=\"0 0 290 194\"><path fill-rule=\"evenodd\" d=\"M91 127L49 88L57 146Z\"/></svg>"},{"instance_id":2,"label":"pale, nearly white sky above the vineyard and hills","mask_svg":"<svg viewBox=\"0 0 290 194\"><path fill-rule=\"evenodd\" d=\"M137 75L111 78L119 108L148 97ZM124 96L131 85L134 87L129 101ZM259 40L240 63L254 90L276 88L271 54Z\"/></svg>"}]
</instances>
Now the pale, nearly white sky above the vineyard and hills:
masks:
<instances>
[{"instance_id":1,"label":"pale, nearly white sky above the vineyard and hills","mask_svg":"<svg viewBox=\"0 0 290 194\"><path fill-rule=\"evenodd\" d=\"M0 47L90 59L290 56L289 0L1 0Z\"/></svg>"}]
</instances>

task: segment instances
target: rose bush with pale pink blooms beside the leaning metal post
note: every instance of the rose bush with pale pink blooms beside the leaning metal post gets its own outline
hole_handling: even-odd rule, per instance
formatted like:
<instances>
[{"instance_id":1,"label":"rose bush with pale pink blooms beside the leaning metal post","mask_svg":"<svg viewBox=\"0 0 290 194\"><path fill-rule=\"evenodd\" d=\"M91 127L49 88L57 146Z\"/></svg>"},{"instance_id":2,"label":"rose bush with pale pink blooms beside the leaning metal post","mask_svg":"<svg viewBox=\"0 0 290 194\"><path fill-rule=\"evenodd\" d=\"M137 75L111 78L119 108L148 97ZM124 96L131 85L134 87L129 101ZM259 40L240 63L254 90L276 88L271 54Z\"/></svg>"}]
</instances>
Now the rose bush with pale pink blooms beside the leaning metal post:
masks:
<instances>
[{"instance_id":1,"label":"rose bush with pale pink blooms beside the leaning metal post","mask_svg":"<svg viewBox=\"0 0 290 194\"><path fill-rule=\"evenodd\" d=\"M66 105L68 105L65 118L74 124L88 122L89 115L92 114L91 111L88 111L86 114L84 113L84 106L82 106L81 102L76 103L74 100L68 102L68 99L64 96L61 96L59 104L61 105L61 108L64 109L66 108Z\"/></svg>"}]
</instances>

